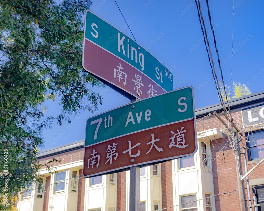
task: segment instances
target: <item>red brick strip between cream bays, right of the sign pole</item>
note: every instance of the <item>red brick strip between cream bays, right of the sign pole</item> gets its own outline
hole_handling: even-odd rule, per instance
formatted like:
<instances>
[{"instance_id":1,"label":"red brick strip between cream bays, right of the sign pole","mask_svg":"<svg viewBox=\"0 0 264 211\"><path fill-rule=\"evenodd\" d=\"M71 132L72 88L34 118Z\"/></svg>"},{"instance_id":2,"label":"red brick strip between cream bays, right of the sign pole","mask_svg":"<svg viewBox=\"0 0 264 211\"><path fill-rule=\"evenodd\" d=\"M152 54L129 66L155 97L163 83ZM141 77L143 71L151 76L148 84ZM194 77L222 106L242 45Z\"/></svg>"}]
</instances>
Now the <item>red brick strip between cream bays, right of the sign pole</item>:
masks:
<instances>
[{"instance_id":1,"label":"red brick strip between cream bays, right of the sign pole","mask_svg":"<svg viewBox=\"0 0 264 211\"><path fill-rule=\"evenodd\" d=\"M161 194L162 208L173 206L173 191L172 191L172 162L167 161L161 163ZM172 208L164 209L164 211L172 211Z\"/></svg>"}]
</instances>

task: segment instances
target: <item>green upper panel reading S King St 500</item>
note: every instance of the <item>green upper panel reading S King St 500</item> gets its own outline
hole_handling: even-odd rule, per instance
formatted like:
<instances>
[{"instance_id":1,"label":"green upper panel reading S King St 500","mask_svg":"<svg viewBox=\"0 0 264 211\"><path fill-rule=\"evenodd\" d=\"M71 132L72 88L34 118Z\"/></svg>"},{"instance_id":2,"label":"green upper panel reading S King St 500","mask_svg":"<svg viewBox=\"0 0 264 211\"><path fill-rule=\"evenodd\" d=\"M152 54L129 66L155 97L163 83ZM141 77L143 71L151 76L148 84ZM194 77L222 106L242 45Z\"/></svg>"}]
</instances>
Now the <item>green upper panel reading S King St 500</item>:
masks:
<instances>
[{"instance_id":1,"label":"green upper panel reading S King St 500","mask_svg":"<svg viewBox=\"0 0 264 211\"><path fill-rule=\"evenodd\" d=\"M84 33L85 39L136 68L165 91L173 90L171 71L128 35L89 10L86 11Z\"/></svg>"}]
</instances>

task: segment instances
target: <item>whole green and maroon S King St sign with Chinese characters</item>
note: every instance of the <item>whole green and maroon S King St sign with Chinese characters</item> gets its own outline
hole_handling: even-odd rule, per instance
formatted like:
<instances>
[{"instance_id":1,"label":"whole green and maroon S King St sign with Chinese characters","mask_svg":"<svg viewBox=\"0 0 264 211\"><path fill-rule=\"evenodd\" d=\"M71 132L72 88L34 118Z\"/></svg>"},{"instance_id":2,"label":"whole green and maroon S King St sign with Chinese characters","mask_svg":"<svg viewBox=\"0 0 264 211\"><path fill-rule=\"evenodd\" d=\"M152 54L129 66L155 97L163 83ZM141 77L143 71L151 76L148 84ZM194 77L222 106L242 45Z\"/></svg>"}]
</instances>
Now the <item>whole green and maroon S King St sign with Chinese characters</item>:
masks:
<instances>
[{"instance_id":1,"label":"whole green and maroon S King St sign with Chinese characters","mask_svg":"<svg viewBox=\"0 0 264 211\"><path fill-rule=\"evenodd\" d=\"M87 10L83 69L125 97L144 99L173 90L173 76L128 35Z\"/></svg>"}]
</instances>

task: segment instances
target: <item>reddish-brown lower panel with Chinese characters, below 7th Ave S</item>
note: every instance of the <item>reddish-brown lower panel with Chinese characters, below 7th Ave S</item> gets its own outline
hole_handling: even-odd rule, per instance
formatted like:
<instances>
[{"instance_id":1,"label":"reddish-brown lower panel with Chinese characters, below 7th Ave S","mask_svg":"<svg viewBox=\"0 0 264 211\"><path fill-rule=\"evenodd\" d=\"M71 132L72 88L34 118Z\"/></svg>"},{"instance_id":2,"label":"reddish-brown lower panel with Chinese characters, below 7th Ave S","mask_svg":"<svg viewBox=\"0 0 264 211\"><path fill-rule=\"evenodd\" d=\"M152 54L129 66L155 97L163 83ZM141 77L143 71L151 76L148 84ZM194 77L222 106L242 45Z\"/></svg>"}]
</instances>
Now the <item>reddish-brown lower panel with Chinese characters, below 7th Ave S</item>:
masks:
<instances>
[{"instance_id":1,"label":"reddish-brown lower panel with Chinese characters, below 7th Ave S","mask_svg":"<svg viewBox=\"0 0 264 211\"><path fill-rule=\"evenodd\" d=\"M164 162L197 151L194 120L173 123L85 147L85 178ZM132 160L133 159L133 160Z\"/></svg>"}]
</instances>

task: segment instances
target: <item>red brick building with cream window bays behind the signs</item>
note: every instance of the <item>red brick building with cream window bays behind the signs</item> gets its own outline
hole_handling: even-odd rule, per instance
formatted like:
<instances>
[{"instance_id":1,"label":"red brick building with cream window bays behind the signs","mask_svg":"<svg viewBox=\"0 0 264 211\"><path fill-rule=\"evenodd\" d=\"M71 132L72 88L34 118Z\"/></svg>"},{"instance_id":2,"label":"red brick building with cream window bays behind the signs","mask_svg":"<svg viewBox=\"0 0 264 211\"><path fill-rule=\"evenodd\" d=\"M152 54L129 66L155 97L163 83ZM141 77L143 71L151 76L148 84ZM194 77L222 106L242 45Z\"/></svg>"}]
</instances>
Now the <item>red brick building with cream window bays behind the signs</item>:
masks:
<instances>
[{"instance_id":1,"label":"red brick building with cream window bays behind the signs","mask_svg":"<svg viewBox=\"0 0 264 211\"><path fill-rule=\"evenodd\" d=\"M264 157L264 92L233 99L229 105L234 123L242 131L238 141L242 153L243 146L247 147L246 164L250 170ZM221 114L221 104L196 109L195 155L140 169L140 210L240 210L233 142L214 111L228 124ZM57 173L41 169L45 190L29 187L21 195L18 210L129 210L129 171L84 179L83 146L82 140L41 151L41 163L61 159L56 164ZM240 159L244 175L244 154ZM244 184L247 188L246 179ZM249 174L249 185L251 198L255 193L261 205L258 210L263 211L264 162ZM245 192L248 199L247 189Z\"/></svg>"}]
</instances>

